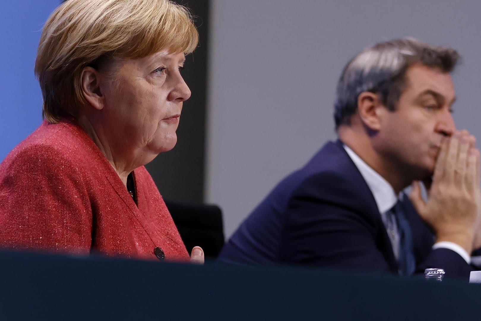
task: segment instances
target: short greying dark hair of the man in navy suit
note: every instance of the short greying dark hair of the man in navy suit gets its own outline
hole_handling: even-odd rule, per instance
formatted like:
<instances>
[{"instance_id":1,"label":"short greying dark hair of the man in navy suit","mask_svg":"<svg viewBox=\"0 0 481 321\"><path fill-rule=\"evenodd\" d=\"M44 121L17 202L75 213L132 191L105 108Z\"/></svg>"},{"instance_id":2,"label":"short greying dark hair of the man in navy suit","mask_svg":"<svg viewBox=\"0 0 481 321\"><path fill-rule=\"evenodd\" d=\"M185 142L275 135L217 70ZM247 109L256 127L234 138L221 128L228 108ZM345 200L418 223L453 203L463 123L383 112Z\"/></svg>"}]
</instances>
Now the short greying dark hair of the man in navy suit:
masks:
<instances>
[{"instance_id":1,"label":"short greying dark hair of the man in navy suit","mask_svg":"<svg viewBox=\"0 0 481 321\"><path fill-rule=\"evenodd\" d=\"M360 93L379 94L381 103L393 111L405 89L407 68L422 64L450 73L459 58L452 48L433 47L414 38L380 42L364 49L346 64L339 78L334 103L336 129L349 124Z\"/></svg>"}]
</instances>

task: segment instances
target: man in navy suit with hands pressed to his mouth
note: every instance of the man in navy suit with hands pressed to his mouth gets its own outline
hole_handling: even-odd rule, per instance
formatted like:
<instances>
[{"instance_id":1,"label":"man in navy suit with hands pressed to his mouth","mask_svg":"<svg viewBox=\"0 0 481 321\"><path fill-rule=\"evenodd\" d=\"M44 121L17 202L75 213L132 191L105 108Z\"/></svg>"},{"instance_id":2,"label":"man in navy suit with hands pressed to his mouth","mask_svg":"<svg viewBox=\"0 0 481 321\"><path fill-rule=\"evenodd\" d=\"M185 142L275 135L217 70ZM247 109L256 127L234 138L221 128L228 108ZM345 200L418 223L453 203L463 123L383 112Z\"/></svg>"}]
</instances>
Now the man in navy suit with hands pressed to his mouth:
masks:
<instances>
[{"instance_id":1,"label":"man in navy suit with hands pressed to his mouth","mask_svg":"<svg viewBox=\"0 0 481 321\"><path fill-rule=\"evenodd\" d=\"M468 277L481 246L480 153L451 116L458 58L416 39L358 53L338 83L339 140L278 184L221 260Z\"/></svg>"}]
</instances>

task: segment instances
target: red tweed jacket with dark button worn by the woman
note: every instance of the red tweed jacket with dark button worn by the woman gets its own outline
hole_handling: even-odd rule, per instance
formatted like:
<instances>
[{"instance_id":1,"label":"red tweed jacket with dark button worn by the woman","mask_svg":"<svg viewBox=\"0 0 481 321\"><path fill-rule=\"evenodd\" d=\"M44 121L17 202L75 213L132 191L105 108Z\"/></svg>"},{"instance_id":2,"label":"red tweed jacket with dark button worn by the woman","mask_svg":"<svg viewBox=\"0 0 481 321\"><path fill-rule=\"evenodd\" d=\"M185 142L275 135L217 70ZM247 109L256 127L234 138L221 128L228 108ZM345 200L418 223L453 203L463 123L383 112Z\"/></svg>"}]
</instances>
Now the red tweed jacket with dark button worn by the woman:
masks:
<instances>
[{"instance_id":1,"label":"red tweed jacket with dark button worn by the woman","mask_svg":"<svg viewBox=\"0 0 481 321\"><path fill-rule=\"evenodd\" d=\"M138 205L75 121L44 121L0 164L0 246L189 260L145 167L133 178Z\"/></svg>"}]
</instances>

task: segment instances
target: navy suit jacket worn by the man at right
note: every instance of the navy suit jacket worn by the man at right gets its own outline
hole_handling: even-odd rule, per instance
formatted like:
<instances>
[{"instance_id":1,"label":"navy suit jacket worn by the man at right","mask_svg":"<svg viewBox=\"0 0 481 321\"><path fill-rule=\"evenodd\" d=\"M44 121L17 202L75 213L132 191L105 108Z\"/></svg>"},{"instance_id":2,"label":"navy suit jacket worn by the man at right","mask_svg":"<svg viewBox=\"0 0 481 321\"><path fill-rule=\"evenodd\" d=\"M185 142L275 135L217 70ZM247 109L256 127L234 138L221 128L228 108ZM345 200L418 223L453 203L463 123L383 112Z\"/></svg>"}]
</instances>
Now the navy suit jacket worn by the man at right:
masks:
<instances>
[{"instance_id":1,"label":"navy suit jacket worn by the man at right","mask_svg":"<svg viewBox=\"0 0 481 321\"><path fill-rule=\"evenodd\" d=\"M468 279L470 265L434 238L405 197L417 272L442 268L446 278ZM341 141L328 142L278 186L241 224L220 260L245 264L292 263L330 269L398 273L378 206Z\"/></svg>"}]
</instances>

